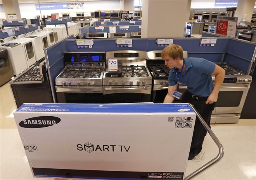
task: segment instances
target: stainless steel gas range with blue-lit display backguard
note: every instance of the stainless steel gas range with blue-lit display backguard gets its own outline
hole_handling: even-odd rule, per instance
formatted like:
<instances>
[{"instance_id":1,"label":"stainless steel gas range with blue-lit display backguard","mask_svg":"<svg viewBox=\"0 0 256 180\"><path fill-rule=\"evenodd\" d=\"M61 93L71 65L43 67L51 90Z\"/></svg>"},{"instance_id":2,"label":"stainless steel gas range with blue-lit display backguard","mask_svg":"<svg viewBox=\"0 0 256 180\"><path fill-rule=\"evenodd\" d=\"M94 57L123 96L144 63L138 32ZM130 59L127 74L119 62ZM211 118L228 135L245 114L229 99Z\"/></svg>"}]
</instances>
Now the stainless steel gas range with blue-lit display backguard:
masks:
<instances>
[{"instance_id":1,"label":"stainless steel gas range with blue-lit display backguard","mask_svg":"<svg viewBox=\"0 0 256 180\"><path fill-rule=\"evenodd\" d=\"M58 103L103 103L105 52L64 52L64 61L55 78Z\"/></svg>"}]
</instances>

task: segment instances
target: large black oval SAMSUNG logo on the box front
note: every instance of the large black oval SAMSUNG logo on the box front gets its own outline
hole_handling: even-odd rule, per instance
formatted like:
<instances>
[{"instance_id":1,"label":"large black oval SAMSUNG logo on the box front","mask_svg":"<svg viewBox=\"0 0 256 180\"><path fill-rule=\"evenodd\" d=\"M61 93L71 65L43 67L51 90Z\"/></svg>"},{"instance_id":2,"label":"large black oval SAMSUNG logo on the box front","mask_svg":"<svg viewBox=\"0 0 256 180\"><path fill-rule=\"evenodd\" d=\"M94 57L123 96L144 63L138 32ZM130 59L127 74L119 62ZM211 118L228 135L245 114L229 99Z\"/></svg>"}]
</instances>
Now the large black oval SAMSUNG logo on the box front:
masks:
<instances>
[{"instance_id":1,"label":"large black oval SAMSUNG logo on the box front","mask_svg":"<svg viewBox=\"0 0 256 180\"><path fill-rule=\"evenodd\" d=\"M25 119L19 123L19 126L25 128L41 128L54 126L61 122L59 117L54 116L39 116L39 117L31 117L29 119Z\"/></svg>"}]
</instances>

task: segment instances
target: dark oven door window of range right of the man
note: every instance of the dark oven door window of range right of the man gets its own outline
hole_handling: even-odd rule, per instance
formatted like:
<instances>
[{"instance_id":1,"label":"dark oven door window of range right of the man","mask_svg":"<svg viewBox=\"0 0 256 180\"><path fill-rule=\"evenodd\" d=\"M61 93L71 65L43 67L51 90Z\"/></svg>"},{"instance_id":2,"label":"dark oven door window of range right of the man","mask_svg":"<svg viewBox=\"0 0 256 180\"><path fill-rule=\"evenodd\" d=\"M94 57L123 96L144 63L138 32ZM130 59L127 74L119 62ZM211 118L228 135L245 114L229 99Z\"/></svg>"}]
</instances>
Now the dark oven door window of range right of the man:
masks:
<instances>
[{"instance_id":1,"label":"dark oven door window of range right of the man","mask_svg":"<svg viewBox=\"0 0 256 180\"><path fill-rule=\"evenodd\" d=\"M220 91L215 107L238 107L243 91Z\"/></svg>"}]
</instances>

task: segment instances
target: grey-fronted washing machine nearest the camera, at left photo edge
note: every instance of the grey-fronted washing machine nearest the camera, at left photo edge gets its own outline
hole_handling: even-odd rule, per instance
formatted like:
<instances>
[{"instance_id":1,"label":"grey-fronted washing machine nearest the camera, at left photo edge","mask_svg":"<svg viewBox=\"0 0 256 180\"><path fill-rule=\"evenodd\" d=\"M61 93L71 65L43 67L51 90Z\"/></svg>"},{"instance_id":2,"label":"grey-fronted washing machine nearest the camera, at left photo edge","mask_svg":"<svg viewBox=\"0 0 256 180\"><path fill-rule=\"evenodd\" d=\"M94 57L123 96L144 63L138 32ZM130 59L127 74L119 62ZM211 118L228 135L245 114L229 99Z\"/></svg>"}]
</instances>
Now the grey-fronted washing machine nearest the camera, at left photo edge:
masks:
<instances>
[{"instance_id":1,"label":"grey-fronted washing machine nearest the camera, at left photo edge","mask_svg":"<svg viewBox=\"0 0 256 180\"><path fill-rule=\"evenodd\" d=\"M0 48L0 86L9 82L12 76L12 63L8 57L8 51Z\"/></svg>"}]
</instances>

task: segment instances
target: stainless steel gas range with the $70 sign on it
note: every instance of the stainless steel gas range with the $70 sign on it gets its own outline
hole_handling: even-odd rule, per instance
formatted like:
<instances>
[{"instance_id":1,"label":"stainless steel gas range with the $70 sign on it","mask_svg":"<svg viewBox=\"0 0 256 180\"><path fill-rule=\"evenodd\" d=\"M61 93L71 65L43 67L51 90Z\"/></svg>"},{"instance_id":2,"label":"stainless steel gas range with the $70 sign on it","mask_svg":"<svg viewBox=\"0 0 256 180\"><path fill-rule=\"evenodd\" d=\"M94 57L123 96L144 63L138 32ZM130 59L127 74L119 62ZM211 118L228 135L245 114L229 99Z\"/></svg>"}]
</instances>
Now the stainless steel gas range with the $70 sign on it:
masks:
<instances>
[{"instance_id":1,"label":"stainless steel gas range with the $70 sign on it","mask_svg":"<svg viewBox=\"0 0 256 180\"><path fill-rule=\"evenodd\" d=\"M152 77L146 66L146 51L106 52L103 76L105 103L150 102ZM118 59L118 72L107 72L108 59Z\"/></svg>"}]
</instances>

